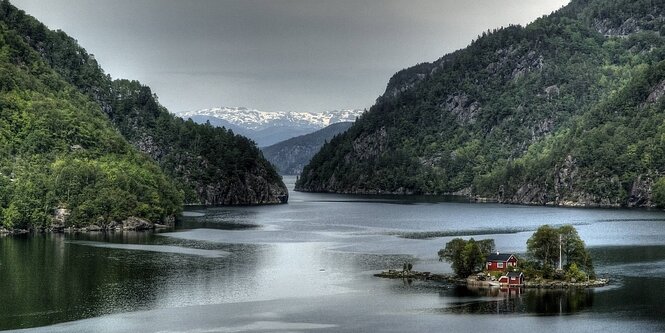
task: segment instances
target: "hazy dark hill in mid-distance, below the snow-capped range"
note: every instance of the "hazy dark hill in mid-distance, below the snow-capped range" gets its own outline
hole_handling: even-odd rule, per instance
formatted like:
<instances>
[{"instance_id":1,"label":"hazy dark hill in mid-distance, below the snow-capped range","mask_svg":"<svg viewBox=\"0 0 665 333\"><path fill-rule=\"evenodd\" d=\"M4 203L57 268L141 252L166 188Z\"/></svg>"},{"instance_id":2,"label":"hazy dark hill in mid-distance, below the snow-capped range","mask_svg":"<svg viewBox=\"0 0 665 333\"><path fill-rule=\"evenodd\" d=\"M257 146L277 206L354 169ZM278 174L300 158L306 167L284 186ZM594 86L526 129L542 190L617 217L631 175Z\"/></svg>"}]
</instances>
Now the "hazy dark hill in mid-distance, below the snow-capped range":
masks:
<instances>
[{"instance_id":1,"label":"hazy dark hill in mid-distance, below the snow-capped range","mask_svg":"<svg viewBox=\"0 0 665 333\"><path fill-rule=\"evenodd\" d=\"M340 133L344 133L352 122L332 124L314 133L297 136L262 148L263 156L282 175L299 175L324 143Z\"/></svg>"}]
</instances>

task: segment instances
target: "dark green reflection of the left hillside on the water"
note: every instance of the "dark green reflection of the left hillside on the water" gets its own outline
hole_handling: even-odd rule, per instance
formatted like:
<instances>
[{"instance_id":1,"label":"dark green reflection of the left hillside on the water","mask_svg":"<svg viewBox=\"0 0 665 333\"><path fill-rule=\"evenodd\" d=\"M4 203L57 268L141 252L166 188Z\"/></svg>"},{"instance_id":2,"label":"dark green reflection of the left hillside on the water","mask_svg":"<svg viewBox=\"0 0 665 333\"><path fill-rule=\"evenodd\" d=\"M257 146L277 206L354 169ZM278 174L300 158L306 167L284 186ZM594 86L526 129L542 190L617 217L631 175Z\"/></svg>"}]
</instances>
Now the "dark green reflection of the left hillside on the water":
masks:
<instances>
[{"instance_id":1,"label":"dark green reflection of the left hillside on the water","mask_svg":"<svg viewBox=\"0 0 665 333\"><path fill-rule=\"evenodd\" d=\"M252 245L157 241L165 243L144 232L0 238L0 330L235 299L229 285L255 289L257 257L266 256Z\"/></svg>"}]
</instances>

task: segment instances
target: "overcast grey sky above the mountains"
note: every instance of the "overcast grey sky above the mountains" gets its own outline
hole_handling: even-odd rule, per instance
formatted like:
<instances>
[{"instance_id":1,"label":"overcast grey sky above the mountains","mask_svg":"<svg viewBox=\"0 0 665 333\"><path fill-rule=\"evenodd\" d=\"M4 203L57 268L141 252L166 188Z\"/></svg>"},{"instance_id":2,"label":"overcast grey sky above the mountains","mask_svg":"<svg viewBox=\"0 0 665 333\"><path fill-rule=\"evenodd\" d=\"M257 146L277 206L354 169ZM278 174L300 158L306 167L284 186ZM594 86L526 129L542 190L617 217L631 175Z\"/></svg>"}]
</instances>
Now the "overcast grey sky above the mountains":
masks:
<instances>
[{"instance_id":1,"label":"overcast grey sky above the mountains","mask_svg":"<svg viewBox=\"0 0 665 333\"><path fill-rule=\"evenodd\" d=\"M373 104L396 71L568 0L10 0L170 111Z\"/></svg>"}]
</instances>

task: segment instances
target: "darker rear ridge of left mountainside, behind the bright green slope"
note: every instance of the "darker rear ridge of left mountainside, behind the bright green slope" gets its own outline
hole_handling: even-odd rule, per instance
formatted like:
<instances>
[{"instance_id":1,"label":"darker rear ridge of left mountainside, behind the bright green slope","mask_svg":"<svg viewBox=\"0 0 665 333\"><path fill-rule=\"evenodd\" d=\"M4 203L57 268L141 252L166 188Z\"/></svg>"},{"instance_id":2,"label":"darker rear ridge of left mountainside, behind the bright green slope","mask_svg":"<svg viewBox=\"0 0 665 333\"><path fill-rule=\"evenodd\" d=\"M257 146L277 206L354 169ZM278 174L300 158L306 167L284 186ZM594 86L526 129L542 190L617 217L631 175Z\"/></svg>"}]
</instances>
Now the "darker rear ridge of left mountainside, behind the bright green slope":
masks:
<instances>
[{"instance_id":1,"label":"darker rear ridge of left mountainside, behind the bright green slope","mask_svg":"<svg viewBox=\"0 0 665 333\"><path fill-rule=\"evenodd\" d=\"M247 138L169 114L150 88L136 81L112 80L74 39L49 30L7 0L0 3L0 21L62 78L96 102L131 144L157 161L185 191L187 203L287 200L281 178Z\"/></svg>"}]
</instances>

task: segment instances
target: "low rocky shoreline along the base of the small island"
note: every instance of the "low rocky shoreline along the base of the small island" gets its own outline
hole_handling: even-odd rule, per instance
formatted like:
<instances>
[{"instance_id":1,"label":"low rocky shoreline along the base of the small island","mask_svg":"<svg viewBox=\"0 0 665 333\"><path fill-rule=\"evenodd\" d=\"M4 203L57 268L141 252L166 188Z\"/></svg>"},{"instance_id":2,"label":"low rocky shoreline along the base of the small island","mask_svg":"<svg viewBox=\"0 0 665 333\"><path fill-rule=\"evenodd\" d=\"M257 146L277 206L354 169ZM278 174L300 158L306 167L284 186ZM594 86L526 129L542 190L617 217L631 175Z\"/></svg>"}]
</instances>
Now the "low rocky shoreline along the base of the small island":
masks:
<instances>
[{"instance_id":1,"label":"low rocky shoreline along the base of the small island","mask_svg":"<svg viewBox=\"0 0 665 333\"><path fill-rule=\"evenodd\" d=\"M381 273L374 274L375 277L386 279L412 279L423 281L447 282L465 286L481 286L481 287L507 287L508 285L500 285L496 281L481 281L475 278L461 279L447 274L433 274L430 272L417 272L417 271L402 271L402 270L387 270ZM526 281L521 285L511 285L510 287L523 287L532 289L569 289L569 288L598 288L604 287L610 283L609 279L595 279L584 282L573 281L560 281L560 280L545 280L538 279L535 281Z\"/></svg>"}]
</instances>

